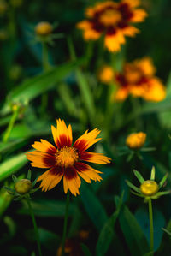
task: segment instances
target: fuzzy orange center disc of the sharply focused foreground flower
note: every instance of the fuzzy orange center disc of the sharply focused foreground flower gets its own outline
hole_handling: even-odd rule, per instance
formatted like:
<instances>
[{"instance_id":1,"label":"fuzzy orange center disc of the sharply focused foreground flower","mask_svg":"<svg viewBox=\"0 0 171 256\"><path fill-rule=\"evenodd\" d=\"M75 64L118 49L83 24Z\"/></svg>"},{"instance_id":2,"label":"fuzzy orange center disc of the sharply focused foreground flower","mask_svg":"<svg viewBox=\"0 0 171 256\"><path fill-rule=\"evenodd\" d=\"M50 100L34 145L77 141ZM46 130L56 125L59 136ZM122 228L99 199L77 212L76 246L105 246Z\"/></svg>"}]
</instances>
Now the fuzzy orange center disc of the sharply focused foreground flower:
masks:
<instances>
[{"instance_id":1,"label":"fuzzy orange center disc of the sharply focused foreground flower","mask_svg":"<svg viewBox=\"0 0 171 256\"><path fill-rule=\"evenodd\" d=\"M79 155L74 147L62 147L60 151L56 152L56 165L67 168L73 166L79 160Z\"/></svg>"}]
</instances>

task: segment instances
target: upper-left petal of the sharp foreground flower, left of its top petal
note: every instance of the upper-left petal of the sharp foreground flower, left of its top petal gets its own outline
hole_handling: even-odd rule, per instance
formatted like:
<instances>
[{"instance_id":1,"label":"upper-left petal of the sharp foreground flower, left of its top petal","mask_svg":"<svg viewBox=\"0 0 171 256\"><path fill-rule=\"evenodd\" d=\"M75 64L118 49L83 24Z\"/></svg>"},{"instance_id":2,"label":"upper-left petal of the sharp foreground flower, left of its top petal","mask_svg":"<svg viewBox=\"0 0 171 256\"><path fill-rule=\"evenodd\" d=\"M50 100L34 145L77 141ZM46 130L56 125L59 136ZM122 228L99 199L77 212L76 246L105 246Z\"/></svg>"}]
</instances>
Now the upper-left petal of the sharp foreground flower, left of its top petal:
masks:
<instances>
[{"instance_id":1,"label":"upper-left petal of the sharp foreground flower, left of its top petal","mask_svg":"<svg viewBox=\"0 0 171 256\"><path fill-rule=\"evenodd\" d=\"M48 152L50 154L56 153L57 151L56 147L50 144L50 142L42 139L40 141L41 142L35 141L34 144L32 144L32 147L37 149L39 152Z\"/></svg>"}]
</instances>

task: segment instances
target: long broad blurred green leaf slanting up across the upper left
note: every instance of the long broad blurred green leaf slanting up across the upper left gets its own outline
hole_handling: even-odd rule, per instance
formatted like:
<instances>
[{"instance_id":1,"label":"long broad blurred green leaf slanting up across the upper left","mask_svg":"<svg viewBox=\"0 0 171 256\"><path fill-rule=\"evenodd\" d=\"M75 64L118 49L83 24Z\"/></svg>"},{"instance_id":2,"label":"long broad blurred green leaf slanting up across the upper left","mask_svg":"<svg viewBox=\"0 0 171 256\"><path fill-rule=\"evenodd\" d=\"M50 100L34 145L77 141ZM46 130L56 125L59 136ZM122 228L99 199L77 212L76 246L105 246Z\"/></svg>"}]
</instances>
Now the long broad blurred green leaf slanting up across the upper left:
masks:
<instances>
[{"instance_id":1,"label":"long broad blurred green leaf slanting up across the upper left","mask_svg":"<svg viewBox=\"0 0 171 256\"><path fill-rule=\"evenodd\" d=\"M27 104L33 98L47 92L56 86L56 82L61 81L68 73L73 71L79 63L80 61L65 63L55 68L50 68L49 71L44 72L43 74L38 74L33 78L25 80L21 85L16 86L15 89L9 93L6 103L3 106L2 114L9 113L9 103L11 102Z\"/></svg>"}]
</instances>

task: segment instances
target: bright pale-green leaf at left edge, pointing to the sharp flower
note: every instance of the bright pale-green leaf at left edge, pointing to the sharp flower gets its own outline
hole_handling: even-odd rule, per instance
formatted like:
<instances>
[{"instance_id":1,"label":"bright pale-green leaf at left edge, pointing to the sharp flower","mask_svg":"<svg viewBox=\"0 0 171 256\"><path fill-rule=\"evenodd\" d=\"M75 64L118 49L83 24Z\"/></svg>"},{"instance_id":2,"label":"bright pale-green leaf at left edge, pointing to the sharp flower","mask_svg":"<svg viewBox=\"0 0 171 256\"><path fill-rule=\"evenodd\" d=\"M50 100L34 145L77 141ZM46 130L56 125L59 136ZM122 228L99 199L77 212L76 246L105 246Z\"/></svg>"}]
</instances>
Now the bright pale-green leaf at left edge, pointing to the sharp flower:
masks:
<instances>
[{"instance_id":1,"label":"bright pale-green leaf at left edge, pointing to the sharp flower","mask_svg":"<svg viewBox=\"0 0 171 256\"><path fill-rule=\"evenodd\" d=\"M5 160L0 164L0 182L27 164L26 152Z\"/></svg>"}]
</instances>

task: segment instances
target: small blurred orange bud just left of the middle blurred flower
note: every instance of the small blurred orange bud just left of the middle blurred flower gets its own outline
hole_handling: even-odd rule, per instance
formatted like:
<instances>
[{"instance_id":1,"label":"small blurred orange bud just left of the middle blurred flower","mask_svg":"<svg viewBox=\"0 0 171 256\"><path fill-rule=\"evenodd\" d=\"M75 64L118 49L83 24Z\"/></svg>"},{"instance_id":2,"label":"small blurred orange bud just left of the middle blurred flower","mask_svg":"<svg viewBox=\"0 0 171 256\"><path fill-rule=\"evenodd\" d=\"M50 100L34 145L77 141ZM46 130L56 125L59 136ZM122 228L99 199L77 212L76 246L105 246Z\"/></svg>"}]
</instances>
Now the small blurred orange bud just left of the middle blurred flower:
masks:
<instances>
[{"instance_id":1,"label":"small blurred orange bud just left of the middle blurred flower","mask_svg":"<svg viewBox=\"0 0 171 256\"><path fill-rule=\"evenodd\" d=\"M112 80L114 80L114 70L108 65L104 65L100 68L98 73L98 79L104 84L109 84Z\"/></svg>"}]
</instances>

